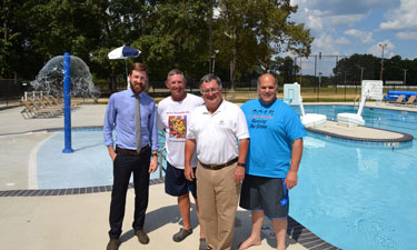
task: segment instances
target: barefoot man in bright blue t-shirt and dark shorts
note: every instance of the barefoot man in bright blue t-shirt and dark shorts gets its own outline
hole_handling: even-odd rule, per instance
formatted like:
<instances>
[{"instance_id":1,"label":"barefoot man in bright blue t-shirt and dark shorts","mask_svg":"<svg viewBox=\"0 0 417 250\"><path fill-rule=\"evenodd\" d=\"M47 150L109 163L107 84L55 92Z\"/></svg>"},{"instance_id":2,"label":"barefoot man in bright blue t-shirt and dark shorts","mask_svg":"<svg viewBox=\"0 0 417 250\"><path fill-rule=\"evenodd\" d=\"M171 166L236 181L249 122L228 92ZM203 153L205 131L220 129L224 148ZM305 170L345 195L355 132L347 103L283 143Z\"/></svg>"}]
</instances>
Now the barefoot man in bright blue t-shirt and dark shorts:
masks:
<instances>
[{"instance_id":1,"label":"barefoot man in bright blue t-shirt and dark shorts","mask_svg":"<svg viewBox=\"0 0 417 250\"><path fill-rule=\"evenodd\" d=\"M288 190L297 184L306 130L297 112L277 100L276 78L258 78L259 99L241 106L248 122L250 143L240 207L251 210L252 232L239 249L260 244L264 214L271 219L277 249L286 249Z\"/></svg>"}]
</instances>

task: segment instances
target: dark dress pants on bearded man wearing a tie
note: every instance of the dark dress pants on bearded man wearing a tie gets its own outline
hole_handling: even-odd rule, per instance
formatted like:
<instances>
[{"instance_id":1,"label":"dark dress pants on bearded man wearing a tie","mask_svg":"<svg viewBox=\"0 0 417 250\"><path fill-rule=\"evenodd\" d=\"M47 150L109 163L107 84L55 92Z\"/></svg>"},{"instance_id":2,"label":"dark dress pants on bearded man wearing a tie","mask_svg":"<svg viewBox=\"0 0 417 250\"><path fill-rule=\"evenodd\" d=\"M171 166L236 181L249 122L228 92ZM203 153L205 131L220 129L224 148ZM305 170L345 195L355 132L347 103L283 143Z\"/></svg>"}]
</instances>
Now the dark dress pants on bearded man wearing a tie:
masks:
<instances>
[{"instance_id":1,"label":"dark dress pants on bearded man wearing a tie","mask_svg":"<svg viewBox=\"0 0 417 250\"><path fill-rule=\"evenodd\" d=\"M110 203L110 231L111 239L119 239L123 224L126 193L129 186L130 173L133 172L135 184L135 220L133 230L143 230L145 213L149 198L149 163L151 150L146 150L139 156L117 153L113 162L113 189Z\"/></svg>"}]
</instances>

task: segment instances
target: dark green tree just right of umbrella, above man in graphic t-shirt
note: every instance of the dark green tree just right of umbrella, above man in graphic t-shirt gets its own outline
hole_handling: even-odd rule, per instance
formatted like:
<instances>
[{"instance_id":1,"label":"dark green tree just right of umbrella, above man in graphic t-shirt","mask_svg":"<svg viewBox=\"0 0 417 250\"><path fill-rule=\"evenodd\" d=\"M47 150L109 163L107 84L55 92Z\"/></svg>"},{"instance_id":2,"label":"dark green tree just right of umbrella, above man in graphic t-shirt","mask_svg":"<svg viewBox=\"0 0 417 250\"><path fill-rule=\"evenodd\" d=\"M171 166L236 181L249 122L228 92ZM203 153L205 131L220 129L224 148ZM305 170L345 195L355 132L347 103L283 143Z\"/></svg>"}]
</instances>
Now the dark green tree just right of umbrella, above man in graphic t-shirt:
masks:
<instances>
[{"instance_id":1,"label":"dark green tree just right of umbrella, above man in graphic t-shirt","mask_svg":"<svg viewBox=\"0 0 417 250\"><path fill-rule=\"evenodd\" d=\"M206 1L155 1L147 27L133 46L142 50L143 61L153 78L165 79L172 68L198 79L207 69L208 39Z\"/></svg>"}]
</instances>

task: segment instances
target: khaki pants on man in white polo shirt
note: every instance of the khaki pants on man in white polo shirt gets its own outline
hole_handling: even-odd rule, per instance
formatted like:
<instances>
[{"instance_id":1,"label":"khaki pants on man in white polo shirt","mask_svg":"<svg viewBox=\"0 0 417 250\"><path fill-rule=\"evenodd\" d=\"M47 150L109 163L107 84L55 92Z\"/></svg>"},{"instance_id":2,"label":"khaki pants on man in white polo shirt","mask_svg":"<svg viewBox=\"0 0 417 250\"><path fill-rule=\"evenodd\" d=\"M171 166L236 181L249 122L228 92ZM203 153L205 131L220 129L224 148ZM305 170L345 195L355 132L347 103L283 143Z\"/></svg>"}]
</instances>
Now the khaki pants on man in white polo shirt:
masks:
<instances>
[{"instance_id":1,"label":"khaki pants on man in white polo shirt","mask_svg":"<svg viewBox=\"0 0 417 250\"><path fill-rule=\"evenodd\" d=\"M237 163L219 170L197 167L197 198L200 208L200 227L207 247L214 250L230 249L234 239L236 209L240 183L235 182Z\"/></svg>"}]
</instances>

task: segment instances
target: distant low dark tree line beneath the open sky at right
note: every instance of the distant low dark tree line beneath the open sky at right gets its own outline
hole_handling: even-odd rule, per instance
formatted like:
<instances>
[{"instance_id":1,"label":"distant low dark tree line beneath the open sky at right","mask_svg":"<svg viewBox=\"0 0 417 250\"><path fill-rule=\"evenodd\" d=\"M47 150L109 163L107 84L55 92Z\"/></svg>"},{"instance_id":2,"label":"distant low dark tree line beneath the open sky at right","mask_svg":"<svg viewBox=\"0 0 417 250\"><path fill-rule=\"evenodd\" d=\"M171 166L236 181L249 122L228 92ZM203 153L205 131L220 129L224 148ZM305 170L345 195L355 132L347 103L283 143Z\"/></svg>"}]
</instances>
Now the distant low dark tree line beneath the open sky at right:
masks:
<instances>
[{"instance_id":1,"label":"distant low dark tree line beneath the open sky at right","mask_svg":"<svg viewBox=\"0 0 417 250\"><path fill-rule=\"evenodd\" d=\"M383 80L388 86L393 84L393 82L404 86L417 86L417 58L410 60L394 56L385 58L383 62L381 58L373 54L326 56L327 62L331 58L330 60L336 59L336 63L331 68L331 73L325 76L318 72L318 64L320 63L318 57L315 54L308 58L309 63L312 63L314 68L317 69L315 74L302 74L302 70L298 66L300 62L295 62L292 58L278 58L278 61L284 61L284 63L278 63L279 67L276 69L280 72L279 78L282 80L280 82L298 81L306 87L317 87L320 83L322 87L336 84L360 86L361 80Z\"/></svg>"}]
</instances>

